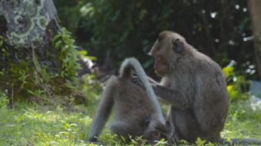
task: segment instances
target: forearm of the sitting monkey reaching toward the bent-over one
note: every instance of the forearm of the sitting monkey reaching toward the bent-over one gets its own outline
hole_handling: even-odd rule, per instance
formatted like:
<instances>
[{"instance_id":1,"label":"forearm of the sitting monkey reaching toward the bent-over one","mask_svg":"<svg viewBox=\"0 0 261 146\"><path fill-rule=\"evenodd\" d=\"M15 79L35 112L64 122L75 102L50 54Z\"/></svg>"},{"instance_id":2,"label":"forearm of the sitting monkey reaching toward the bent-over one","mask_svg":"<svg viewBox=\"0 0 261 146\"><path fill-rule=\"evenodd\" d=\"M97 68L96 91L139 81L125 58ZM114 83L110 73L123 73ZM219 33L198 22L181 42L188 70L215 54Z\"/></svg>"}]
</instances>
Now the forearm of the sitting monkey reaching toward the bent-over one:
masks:
<instances>
[{"instance_id":1,"label":"forearm of the sitting monkey reaching toward the bent-over one","mask_svg":"<svg viewBox=\"0 0 261 146\"><path fill-rule=\"evenodd\" d=\"M188 99L188 97L185 97L185 95L179 90L160 86L159 84L152 84L152 88L155 94L161 97L163 101L166 101L166 103L170 103L176 108L190 108L190 100Z\"/></svg>"}]
</instances>

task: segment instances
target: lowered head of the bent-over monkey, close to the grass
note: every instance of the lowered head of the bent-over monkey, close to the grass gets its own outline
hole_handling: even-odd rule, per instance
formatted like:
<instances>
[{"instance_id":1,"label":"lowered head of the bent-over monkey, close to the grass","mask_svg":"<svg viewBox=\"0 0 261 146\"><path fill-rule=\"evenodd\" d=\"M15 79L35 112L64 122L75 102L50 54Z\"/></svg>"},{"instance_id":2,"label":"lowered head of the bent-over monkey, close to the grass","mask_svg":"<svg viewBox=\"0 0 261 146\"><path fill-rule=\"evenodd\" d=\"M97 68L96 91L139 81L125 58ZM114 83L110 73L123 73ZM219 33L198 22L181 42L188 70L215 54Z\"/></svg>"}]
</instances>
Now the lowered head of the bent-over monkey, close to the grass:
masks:
<instances>
[{"instance_id":1,"label":"lowered head of the bent-over monkey, close to the grass","mask_svg":"<svg viewBox=\"0 0 261 146\"><path fill-rule=\"evenodd\" d=\"M172 135L174 134L174 125L172 122L167 120L165 123L160 123L157 120L147 121L147 127L144 131L144 138L149 141L150 144L155 144L162 138L165 141L171 141Z\"/></svg>"}]
</instances>

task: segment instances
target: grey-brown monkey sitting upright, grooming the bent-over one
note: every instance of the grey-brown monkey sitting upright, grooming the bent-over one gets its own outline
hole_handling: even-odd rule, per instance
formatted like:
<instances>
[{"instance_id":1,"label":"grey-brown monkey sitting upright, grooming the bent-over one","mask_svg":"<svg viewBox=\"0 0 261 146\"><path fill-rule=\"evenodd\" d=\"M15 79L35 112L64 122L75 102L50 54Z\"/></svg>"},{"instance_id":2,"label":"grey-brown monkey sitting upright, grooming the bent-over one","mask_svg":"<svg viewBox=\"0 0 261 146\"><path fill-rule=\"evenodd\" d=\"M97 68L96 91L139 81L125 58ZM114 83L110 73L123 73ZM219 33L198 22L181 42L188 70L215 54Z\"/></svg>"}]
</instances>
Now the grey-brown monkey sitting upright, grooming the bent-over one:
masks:
<instances>
[{"instance_id":1,"label":"grey-brown monkey sitting upright, grooming the bent-over one","mask_svg":"<svg viewBox=\"0 0 261 146\"><path fill-rule=\"evenodd\" d=\"M177 138L220 142L229 108L220 66L170 31L159 34L149 54L155 58L155 73L162 77L160 84L150 81L155 94L170 104L168 118Z\"/></svg>"}]
</instances>

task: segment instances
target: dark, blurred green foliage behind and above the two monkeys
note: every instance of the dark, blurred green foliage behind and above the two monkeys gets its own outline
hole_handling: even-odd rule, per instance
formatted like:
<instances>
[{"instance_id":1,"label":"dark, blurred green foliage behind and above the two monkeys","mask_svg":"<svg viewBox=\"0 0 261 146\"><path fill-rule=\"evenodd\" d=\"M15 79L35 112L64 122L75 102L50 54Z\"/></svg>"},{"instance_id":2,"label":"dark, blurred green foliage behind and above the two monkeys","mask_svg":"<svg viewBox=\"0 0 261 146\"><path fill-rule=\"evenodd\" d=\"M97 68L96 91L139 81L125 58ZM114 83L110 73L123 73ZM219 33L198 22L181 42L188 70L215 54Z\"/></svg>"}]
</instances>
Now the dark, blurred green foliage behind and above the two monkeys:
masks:
<instances>
[{"instance_id":1,"label":"dark, blurred green foliage behind and above the two monkeys","mask_svg":"<svg viewBox=\"0 0 261 146\"><path fill-rule=\"evenodd\" d=\"M236 69L245 64L245 71L254 62L246 0L54 2L65 27L100 63L108 54L118 64L135 56L152 72L152 59L144 54L164 29L181 33L221 66L236 60Z\"/></svg>"}]
</instances>

